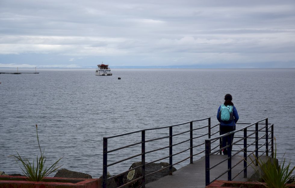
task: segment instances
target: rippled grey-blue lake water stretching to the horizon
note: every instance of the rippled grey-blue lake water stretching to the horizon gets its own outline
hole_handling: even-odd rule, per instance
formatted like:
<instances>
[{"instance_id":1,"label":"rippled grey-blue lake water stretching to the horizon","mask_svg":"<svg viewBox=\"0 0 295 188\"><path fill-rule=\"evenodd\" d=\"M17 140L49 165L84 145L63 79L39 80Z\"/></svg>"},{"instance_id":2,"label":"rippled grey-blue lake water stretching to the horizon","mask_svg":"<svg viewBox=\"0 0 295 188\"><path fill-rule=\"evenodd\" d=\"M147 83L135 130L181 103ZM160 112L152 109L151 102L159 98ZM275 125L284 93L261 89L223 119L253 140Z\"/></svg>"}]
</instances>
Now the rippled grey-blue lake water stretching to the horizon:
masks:
<instances>
[{"instance_id":1,"label":"rippled grey-blue lake water stretching to the horizon","mask_svg":"<svg viewBox=\"0 0 295 188\"><path fill-rule=\"evenodd\" d=\"M0 74L0 170L8 174L22 173L14 158L8 157L16 150L29 159L39 154L35 124L48 165L63 157L59 163L62 168L99 177L103 137L206 117L211 117L212 125L217 124L217 109L226 93L233 96L240 123L265 117L274 123L278 158L286 152L284 157L295 164L295 69L113 69L113 76L105 77L95 76L95 70L39 72ZM150 136L163 132L151 132ZM138 136L109 144L116 147ZM140 150L134 147L127 153L135 155ZM166 154L156 155L160 158ZM108 162L125 155L109 155ZM133 161L109 171L116 174L127 170Z\"/></svg>"}]
</instances>

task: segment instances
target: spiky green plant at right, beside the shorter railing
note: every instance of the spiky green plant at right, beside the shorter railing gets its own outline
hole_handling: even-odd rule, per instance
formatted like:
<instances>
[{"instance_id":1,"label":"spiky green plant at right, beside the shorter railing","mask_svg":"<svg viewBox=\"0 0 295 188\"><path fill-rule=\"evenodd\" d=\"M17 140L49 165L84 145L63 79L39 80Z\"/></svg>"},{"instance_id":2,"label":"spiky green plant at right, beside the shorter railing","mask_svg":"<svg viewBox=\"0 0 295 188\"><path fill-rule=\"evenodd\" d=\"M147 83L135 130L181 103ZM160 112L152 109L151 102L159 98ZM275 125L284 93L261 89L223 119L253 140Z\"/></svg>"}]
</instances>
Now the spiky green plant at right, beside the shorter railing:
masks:
<instances>
[{"instance_id":1,"label":"spiky green plant at right, beside the shorter railing","mask_svg":"<svg viewBox=\"0 0 295 188\"><path fill-rule=\"evenodd\" d=\"M276 159L276 156L277 156L277 144L275 141L274 159ZM295 167L293 167L292 169L290 168L290 165L291 165L290 161L286 165L285 164L286 159L284 158L284 160L281 161L280 165L277 166L276 164L273 164L271 160L268 160L267 162L263 162L261 159L257 159L255 155L254 155L254 158L255 160L258 161L258 165L261 169L262 180L264 180L264 182L266 183L266 185L265 184L263 185L265 185L266 187L287 188L287 187L290 187L290 185L295 183L293 182L291 184L287 184L287 181L292 176L292 172L294 171L294 168L295 168ZM254 163L254 160L251 159L251 161Z\"/></svg>"}]
</instances>

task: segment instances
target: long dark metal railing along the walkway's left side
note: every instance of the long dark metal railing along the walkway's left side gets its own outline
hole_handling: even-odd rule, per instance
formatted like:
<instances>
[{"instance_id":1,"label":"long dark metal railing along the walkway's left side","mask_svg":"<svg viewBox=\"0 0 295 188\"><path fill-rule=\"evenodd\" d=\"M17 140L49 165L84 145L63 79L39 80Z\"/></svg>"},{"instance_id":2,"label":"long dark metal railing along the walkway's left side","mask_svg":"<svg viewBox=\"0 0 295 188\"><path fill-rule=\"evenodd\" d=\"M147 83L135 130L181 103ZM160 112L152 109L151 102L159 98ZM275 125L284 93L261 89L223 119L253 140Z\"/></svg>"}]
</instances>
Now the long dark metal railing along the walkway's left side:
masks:
<instances>
[{"instance_id":1,"label":"long dark metal railing along the walkway's left side","mask_svg":"<svg viewBox=\"0 0 295 188\"><path fill-rule=\"evenodd\" d=\"M206 126L200 126L200 127L197 127L197 128L193 128L193 123L194 122L201 122L201 121L205 121L205 120L208 120L208 125L206 125ZM162 170L167 169L167 168L169 168L169 174L172 175L172 166L173 165L177 165L177 164L179 164L181 162L184 162L187 159L190 159L190 163L193 163L193 156L196 156L196 155L199 155L199 154L205 152L205 150L202 150L202 151L194 154L193 153L193 148L196 148L196 147L199 147L200 148L202 145L205 144L205 142L202 141L202 143L198 143L197 145L194 145L193 140L194 139L197 139L197 138L203 138L203 137L205 137L207 135L208 135L208 138L210 139L210 137L212 135L215 135L215 134L217 134L217 133L220 132L218 130L217 132L214 132L213 134L211 134L211 130L214 127L218 126L218 125L219 124L211 127L211 118L209 117L209 118L205 118L205 119L201 119L201 120L189 121L189 122L186 122L186 123L181 123L181 124L173 125L173 126L165 126L165 127L153 128L153 129L143 129L143 130L128 132L128 133L125 133L125 134L120 134L120 135L115 135L115 136L110 136L110 137L104 137L103 138L103 177L102 177L102 186L104 188L106 188L107 187L107 181L110 178L115 178L115 177L121 176L121 175L125 174L126 172L135 170L137 168L141 168L141 177L138 177L138 178L136 178L136 179L134 179L132 181L129 181L128 183L125 183L123 185L120 185L119 187L125 187L125 186L127 186L127 185L129 185L131 183L134 183L136 181L139 181L139 180L141 180L141 187L145 187L145 180L146 180L146 177L147 176L149 176L151 174L154 174L154 173L157 173L157 172L162 171ZM174 127L179 127L179 126L185 126L185 127L188 127L189 126L189 130L184 131L184 132L180 132L180 133L177 133L177 134L173 134L173 128ZM199 129L205 129L205 128L208 128L208 133L193 137L193 135L195 135L194 134L194 131L197 131ZM160 138L154 138L154 139L146 140L146 132L147 131L150 131L150 130L158 130L158 129L169 129L169 136L163 136L163 137L160 137ZM178 136L178 135L182 135L182 134L185 134L185 133L188 134L188 132L189 132L189 135L190 135L189 136L189 139L186 139L185 141L180 141L180 142L175 143L175 144L172 142L173 141L173 137ZM109 141L109 139L111 139L111 138L117 138L117 137L122 137L122 136L126 136L126 135L129 136L129 135L132 135L132 134L135 134L135 133L138 133L138 134L141 133L141 139L140 140L135 141L135 143L133 143L133 144L129 144L129 145L126 145L126 146L123 146L123 147L118 147L118 148L115 148L115 149L112 149L112 150L108 150L108 141ZM163 133L161 133L161 135L163 135ZM153 149L153 150L150 150L150 151L146 151L145 144L147 142L159 141L159 140L163 140L165 138L166 139L169 138L169 145L168 146L162 147L162 148L158 148L158 149ZM173 147L175 147L176 145L179 145L179 144L188 142L188 141L190 143L190 146L188 148L186 148L185 150L182 150L182 151L180 151L178 153L173 153ZM108 157L108 154L109 153L112 153L112 152L115 152L115 151L118 151L118 150L123 150L123 149L128 148L128 147L134 147L134 146L140 145L140 144L141 144L141 153L135 154L135 155L130 156L130 157L125 158L125 159L121 159L121 160L116 161L116 162L113 162L111 164L108 164L107 163L108 162L107 157ZM209 147L210 147L210 145L209 145ZM150 162L147 162L146 161L146 154L153 153L153 152L156 152L156 151L159 151L159 150L163 150L163 149L168 149L168 148L169 148L169 155L167 153L167 156L164 156L164 157L161 156L160 159L156 159L156 160L150 161ZM208 149L208 148L206 147L206 149ZM176 163L173 163L172 162L173 161L173 156L179 155L179 154L181 154L181 153L183 153L185 151L188 151L188 150L190 151L190 155L188 157L186 157L185 159L182 159L181 161L178 161ZM115 176L112 176L112 177L109 177L109 178L107 177L107 168L108 167L110 167L112 165L115 165L115 164L118 164L118 163L121 163L121 162L124 162L124 161L129 160L129 159L133 159L135 157L139 157L139 156L141 156L141 165L138 165L138 166L136 166L134 168L131 168L131 169L129 169L127 171L124 171L123 173L117 174ZM146 174L146 171L145 171L145 166L146 165L151 164L151 163L154 163L154 162L157 162L157 161L160 161L160 160L163 160L163 159L168 159L168 158L169 158L169 166L166 166L166 167L164 167L164 168L162 168L160 170L154 171L152 173Z\"/></svg>"}]
</instances>

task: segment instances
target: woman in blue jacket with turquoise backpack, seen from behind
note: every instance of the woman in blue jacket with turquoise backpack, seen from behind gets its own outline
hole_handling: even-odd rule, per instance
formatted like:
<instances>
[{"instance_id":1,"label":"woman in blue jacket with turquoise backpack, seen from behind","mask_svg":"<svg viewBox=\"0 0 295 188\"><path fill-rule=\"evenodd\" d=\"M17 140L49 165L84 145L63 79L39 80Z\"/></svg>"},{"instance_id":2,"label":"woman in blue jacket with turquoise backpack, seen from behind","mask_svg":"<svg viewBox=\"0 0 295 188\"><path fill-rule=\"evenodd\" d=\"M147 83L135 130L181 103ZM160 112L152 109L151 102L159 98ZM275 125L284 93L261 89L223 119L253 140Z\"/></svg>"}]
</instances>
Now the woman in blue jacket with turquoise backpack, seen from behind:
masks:
<instances>
[{"instance_id":1,"label":"woman in blue jacket with turquoise backpack, seen from behind","mask_svg":"<svg viewBox=\"0 0 295 188\"><path fill-rule=\"evenodd\" d=\"M226 94L224 100L225 102L219 106L217 112L217 120L220 122L220 135L236 130L236 123L239 120L238 111L231 102L231 95ZM231 141L232 144L233 139L234 134L223 137L221 146L225 147L229 145L229 141ZM224 155L228 154L227 149L228 148L222 150Z\"/></svg>"}]
</instances>

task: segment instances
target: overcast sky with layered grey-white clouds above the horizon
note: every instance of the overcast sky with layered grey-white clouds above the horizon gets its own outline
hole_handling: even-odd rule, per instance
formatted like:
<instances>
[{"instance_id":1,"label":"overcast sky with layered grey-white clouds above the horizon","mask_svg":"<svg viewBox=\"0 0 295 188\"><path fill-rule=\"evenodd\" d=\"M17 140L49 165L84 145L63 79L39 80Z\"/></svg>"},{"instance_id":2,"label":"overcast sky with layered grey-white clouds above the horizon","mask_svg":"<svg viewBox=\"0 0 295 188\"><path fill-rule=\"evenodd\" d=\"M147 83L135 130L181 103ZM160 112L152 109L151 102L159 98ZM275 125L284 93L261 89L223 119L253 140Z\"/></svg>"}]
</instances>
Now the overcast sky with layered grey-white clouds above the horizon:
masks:
<instances>
[{"instance_id":1,"label":"overcast sky with layered grey-white clouds above the horizon","mask_svg":"<svg viewBox=\"0 0 295 188\"><path fill-rule=\"evenodd\" d=\"M0 0L0 68L295 68L295 1Z\"/></svg>"}]
</instances>

